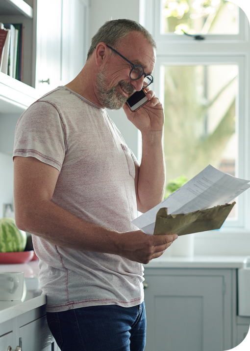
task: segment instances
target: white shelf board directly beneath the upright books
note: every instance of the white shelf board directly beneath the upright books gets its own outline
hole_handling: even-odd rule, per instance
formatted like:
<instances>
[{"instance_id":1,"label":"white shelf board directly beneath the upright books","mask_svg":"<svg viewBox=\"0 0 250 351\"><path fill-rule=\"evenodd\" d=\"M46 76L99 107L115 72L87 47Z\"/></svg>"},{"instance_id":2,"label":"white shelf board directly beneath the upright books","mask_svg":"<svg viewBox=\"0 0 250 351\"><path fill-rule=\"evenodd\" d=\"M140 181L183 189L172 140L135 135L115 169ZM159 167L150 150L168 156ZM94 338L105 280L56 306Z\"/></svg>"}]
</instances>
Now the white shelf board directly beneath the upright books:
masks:
<instances>
[{"instance_id":1,"label":"white shelf board directly beneath the upright books","mask_svg":"<svg viewBox=\"0 0 250 351\"><path fill-rule=\"evenodd\" d=\"M22 114L39 97L34 88L0 72L1 114Z\"/></svg>"}]
</instances>

